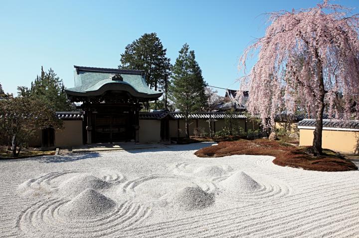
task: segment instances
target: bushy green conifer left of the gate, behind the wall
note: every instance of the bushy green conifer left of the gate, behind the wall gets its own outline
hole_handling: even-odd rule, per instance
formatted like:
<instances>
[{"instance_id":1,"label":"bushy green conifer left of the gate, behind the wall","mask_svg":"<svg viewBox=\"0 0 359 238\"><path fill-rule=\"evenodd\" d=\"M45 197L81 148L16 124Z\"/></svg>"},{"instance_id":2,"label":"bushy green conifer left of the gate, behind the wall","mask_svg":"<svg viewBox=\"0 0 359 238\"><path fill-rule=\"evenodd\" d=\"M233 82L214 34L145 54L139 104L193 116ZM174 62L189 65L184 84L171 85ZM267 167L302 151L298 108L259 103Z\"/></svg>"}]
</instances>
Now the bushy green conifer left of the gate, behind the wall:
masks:
<instances>
[{"instance_id":1,"label":"bushy green conifer left of the gate, behind the wall","mask_svg":"<svg viewBox=\"0 0 359 238\"><path fill-rule=\"evenodd\" d=\"M74 110L74 107L66 98L65 86L62 79L57 77L51 68L48 72L44 72L41 67L41 74L31 82L30 89L24 86L19 86L17 87L17 90L19 96L32 96L38 98L52 110Z\"/></svg>"}]
</instances>

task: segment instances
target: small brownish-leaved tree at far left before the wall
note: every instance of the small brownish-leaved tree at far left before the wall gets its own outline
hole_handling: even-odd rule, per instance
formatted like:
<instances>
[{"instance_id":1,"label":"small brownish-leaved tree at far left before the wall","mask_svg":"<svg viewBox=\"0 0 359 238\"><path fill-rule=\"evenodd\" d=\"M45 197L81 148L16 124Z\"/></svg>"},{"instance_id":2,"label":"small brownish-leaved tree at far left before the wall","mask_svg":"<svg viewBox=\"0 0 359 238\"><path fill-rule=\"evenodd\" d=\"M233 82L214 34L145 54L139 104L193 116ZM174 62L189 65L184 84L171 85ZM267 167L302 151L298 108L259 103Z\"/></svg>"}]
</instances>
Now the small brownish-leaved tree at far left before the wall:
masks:
<instances>
[{"instance_id":1,"label":"small brownish-leaved tree at far left before the wall","mask_svg":"<svg viewBox=\"0 0 359 238\"><path fill-rule=\"evenodd\" d=\"M11 140L13 157L36 131L48 127L60 129L62 123L43 101L33 97L0 100L0 133Z\"/></svg>"}]
</instances>

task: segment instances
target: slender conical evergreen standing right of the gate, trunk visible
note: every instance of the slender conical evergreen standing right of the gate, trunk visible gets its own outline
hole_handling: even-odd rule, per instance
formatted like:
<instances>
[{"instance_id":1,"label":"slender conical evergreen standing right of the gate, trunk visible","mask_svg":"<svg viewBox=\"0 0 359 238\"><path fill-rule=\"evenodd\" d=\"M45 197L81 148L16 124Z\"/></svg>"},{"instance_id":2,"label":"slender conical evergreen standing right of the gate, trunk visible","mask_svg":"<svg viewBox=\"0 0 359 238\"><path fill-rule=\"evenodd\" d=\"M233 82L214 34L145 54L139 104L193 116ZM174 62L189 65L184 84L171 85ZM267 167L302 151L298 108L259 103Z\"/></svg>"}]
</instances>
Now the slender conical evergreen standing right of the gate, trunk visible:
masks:
<instances>
[{"instance_id":1,"label":"slender conical evergreen standing right of the gate, trunk visible","mask_svg":"<svg viewBox=\"0 0 359 238\"><path fill-rule=\"evenodd\" d=\"M189 46L184 44L173 67L170 92L176 108L184 113L186 138L189 138L188 114L205 106L205 87L206 83L195 61L194 51L189 51Z\"/></svg>"}]
</instances>

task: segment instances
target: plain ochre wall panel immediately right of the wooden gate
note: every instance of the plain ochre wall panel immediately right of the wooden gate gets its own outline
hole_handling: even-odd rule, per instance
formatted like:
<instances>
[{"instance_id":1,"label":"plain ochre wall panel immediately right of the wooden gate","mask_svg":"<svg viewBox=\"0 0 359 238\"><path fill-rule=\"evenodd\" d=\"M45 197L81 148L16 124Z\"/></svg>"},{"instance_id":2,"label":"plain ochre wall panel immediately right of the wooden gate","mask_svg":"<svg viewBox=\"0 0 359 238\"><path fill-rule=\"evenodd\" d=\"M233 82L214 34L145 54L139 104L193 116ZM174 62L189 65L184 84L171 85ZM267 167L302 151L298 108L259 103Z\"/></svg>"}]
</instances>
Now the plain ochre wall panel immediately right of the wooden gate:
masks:
<instances>
[{"instance_id":1,"label":"plain ochre wall panel immediately right of the wooden gate","mask_svg":"<svg viewBox=\"0 0 359 238\"><path fill-rule=\"evenodd\" d=\"M140 143L160 142L161 140L161 121L160 120L140 120Z\"/></svg>"}]
</instances>

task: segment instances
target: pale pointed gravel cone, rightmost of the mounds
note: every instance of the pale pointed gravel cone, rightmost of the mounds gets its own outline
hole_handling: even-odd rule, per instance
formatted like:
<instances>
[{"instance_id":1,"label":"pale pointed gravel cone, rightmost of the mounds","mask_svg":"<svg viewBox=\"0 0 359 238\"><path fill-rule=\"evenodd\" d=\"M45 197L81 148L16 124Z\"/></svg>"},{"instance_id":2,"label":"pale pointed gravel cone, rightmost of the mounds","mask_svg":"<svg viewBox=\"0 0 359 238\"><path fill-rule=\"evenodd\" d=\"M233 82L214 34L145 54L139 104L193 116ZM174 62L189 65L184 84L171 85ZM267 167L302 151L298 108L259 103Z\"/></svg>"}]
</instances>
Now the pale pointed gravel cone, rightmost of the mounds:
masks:
<instances>
[{"instance_id":1,"label":"pale pointed gravel cone, rightmost of the mounds","mask_svg":"<svg viewBox=\"0 0 359 238\"><path fill-rule=\"evenodd\" d=\"M245 172L236 172L219 184L227 191L235 193L250 193L261 188L261 185Z\"/></svg>"}]
</instances>

